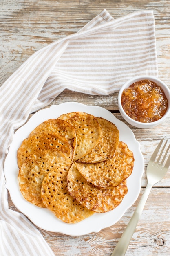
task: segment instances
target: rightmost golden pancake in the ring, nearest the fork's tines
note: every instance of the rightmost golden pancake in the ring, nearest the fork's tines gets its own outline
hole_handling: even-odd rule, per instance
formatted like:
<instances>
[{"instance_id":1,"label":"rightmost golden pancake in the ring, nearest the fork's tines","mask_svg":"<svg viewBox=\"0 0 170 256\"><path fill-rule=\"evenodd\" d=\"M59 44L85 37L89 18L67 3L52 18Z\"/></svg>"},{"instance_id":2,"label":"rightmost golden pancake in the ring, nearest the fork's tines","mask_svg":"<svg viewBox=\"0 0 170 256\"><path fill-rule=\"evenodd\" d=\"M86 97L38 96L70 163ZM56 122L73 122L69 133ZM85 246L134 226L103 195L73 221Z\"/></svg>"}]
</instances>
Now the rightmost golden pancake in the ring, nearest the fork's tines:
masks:
<instances>
[{"instance_id":1,"label":"rightmost golden pancake in the ring, nearest the fork's tines","mask_svg":"<svg viewBox=\"0 0 170 256\"><path fill-rule=\"evenodd\" d=\"M82 176L100 188L117 186L130 176L134 157L124 142L119 143L112 158L99 163L75 163Z\"/></svg>"}]
</instances>

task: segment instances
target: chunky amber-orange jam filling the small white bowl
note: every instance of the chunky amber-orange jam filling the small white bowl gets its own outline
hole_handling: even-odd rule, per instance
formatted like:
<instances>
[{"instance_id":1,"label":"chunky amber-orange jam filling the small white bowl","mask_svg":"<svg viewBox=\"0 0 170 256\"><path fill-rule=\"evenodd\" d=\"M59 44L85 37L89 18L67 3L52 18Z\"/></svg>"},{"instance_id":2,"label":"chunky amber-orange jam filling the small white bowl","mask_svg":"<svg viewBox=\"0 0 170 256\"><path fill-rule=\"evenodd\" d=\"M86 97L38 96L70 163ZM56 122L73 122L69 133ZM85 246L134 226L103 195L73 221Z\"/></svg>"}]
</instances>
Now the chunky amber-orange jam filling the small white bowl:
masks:
<instances>
[{"instance_id":1,"label":"chunky amber-orange jam filling the small white bowl","mask_svg":"<svg viewBox=\"0 0 170 256\"><path fill-rule=\"evenodd\" d=\"M159 85L144 79L124 89L121 105L130 118L142 123L151 123L165 115L168 100Z\"/></svg>"}]
</instances>

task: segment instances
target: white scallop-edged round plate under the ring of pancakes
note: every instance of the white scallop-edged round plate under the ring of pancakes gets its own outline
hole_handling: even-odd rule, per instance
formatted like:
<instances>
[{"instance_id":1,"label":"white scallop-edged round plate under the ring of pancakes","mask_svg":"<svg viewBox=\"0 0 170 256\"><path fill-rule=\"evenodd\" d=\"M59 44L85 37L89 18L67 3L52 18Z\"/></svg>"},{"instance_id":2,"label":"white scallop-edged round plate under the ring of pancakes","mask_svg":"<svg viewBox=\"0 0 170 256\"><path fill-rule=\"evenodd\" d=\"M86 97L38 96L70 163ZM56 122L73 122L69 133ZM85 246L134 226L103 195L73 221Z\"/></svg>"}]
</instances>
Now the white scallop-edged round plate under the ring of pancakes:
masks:
<instances>
[{"instance_id":1,"label":"white scallop-edged round plate under the ring of pancakes","mask_svg":"<svg viewBox=\"0 0 170 256\"><path fill-rule=\"evenodd\" d=\"M22 141L28 137L30 132L40 123L47 119L57 118L68 112L82 111L96 117L103 117L113 122L119 129L120 141L124 141L135 158L132 174L127 179L128 193L121 204L113 211L107 213L95 213L92 216L76 224L67 224L59 220L51 211L40 208L26 201L22 196L18 184L17 150ZM144 171L144 158L140 151L140 144L130 128L108 110L98 106L86 106L84 104L68 102L60 105L52 105L36 112L29 121L19 128L13 137L13 142L9 148L9 153L4 163L4 174L6 178L6 188L9 190L11 200L19 211L24 213L36 226L51 232L60 232L72 236L85 235L91 232L99 232L101 229L115 224L125 213L125 211L137 200L141 189L141 177Z\"/></svg>"}]
</instances>

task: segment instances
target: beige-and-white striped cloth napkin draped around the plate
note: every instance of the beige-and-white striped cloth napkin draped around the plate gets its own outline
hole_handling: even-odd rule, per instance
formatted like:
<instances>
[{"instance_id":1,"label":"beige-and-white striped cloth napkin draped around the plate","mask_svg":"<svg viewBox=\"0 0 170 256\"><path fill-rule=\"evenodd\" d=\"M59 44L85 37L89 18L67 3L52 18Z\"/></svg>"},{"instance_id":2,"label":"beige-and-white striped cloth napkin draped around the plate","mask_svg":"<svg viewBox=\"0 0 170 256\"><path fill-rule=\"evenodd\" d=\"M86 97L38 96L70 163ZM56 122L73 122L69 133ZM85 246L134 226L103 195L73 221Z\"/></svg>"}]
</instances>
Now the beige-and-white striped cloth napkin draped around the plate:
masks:
<instances>
[{"instance_id":1,"label":"beige-and-white striped cloth napkin draped around the plate","mask_svg":"<svg viewBox=\"0 0 170 256\"><path fill-rule=\"evenodd\" d=\"M8 209L3 164L15 129L65 88L108 95L140 74L157 76L153 12L113 19L104 10L77 33L35 52L0 87L0 255L54 255L38 229Z\"/></svg>"}]
</instances>

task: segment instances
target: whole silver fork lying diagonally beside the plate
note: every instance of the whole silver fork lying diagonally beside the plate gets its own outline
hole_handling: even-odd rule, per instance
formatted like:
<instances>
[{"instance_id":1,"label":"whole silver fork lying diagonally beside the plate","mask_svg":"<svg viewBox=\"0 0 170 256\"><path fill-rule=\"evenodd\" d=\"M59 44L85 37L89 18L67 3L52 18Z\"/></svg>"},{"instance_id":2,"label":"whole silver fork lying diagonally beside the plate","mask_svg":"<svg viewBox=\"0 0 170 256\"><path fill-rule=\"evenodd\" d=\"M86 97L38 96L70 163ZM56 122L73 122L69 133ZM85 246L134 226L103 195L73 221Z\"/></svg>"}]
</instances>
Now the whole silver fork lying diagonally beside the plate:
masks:
<instances>
[{"instance_id":1,"label":"whole silver fork lying diagonally beside the plate","mask_svg":"<svg viewBox=\"0 0 170 256\"><path fill-rule=\"evenodd\" d=\"M167 140L166 140L166 142L161 150L161 153L158 156L158 159L156 161L156 158L157 158L157 155L161 148L162 143L163 143L163 139L159 142L157 148L155 148L155 151L150 158L150 161L149 161L147 169L146 169L146 176L147 176L148 184L146 186L144 194L142 195L141 200L140 200L135 212L133 213L132 218L130 219L130 222L128 223L124 233L122 234L121 238L119 239L119 242L117 243L115 250L113 251L111 256L124 256L126 254L126 250L128 249L128 245L130 243L132 235L137 226L139 217L141 216L141 213L144 209L146 200L148 199L148 195L152 189L152 186L155 185L157 182L159 182L165 176L165 174L170 166L170 155L168 156L168 159L166 160L166 163L163 166L163 163L165 162L170 145L168 146L166 153L163 156L163 159L161 160L161 163L159 163L161 156L163 155L163 151L166 147Z\"/></svg>"}]
</instances>

